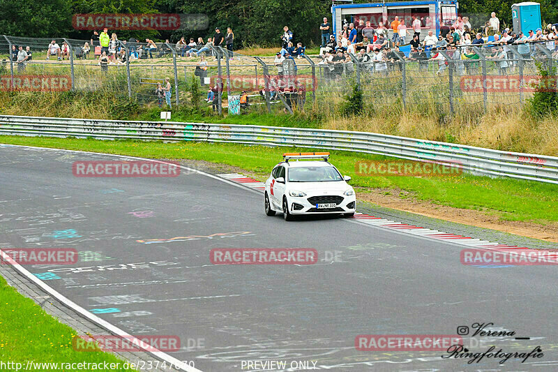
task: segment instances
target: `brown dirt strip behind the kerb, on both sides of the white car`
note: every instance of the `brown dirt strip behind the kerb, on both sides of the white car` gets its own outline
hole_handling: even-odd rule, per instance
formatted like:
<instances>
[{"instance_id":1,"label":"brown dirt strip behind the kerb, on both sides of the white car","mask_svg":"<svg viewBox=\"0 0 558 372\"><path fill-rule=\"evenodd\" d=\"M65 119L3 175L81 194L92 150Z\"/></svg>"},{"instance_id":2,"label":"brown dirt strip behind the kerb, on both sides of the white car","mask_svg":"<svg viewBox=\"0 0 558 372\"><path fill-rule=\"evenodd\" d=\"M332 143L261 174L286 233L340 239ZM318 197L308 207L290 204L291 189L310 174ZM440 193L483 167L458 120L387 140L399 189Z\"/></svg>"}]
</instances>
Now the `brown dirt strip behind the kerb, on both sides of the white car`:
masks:
<instances>
[{"instance_id":1,"label":"brown dirt strip behind the kerb, on both sides of the white car","mask_svg":"<svg viewBox=\"0 0 558 372\"><path fill-rule=\"evenodd\" d=\"M268 177L267 174L257 174L243 170L239 167L226 164L209 163L206 161L180 161L183 165L188 165L198 170L210 172L213 174L219 173L240 173L258 181L265 181ZM400 191L387 190L387 189L365 189L355 188L356 197L365 202L371 202L381 207L398 209L400 211L407 211L421 216L431 218L438 218L444 221L455 223L462 223L465 225L476 226L478 228L487 228L508 232L510 234L520 235L522 237L530 237L534 239L541 239L545 241L552 241L558 243L558 223L549 223L548 225L541 225L539 223L527 221L501 221L497 216L491 216L483 211L476 211L473 209L462 209L447 207L432 202L425 202L423 200L416 200L411 194L405 193L405 198L400 198ZM359 192L365 191L365 192Z\"/></svg>"}]
</instances>

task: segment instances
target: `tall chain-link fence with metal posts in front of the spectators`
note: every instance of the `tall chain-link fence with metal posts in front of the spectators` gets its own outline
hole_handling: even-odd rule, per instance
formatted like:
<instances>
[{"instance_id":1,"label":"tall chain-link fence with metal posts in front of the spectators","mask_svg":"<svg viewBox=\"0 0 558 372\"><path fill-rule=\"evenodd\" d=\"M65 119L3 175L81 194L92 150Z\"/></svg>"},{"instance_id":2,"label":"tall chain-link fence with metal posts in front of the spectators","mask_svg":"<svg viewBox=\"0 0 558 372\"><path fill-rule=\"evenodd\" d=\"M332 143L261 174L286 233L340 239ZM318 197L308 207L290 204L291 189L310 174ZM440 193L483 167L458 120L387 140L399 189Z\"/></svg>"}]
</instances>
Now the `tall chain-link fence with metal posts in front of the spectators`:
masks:
<instances>
[{"instance_id":1,"label":"tall chain-link fence with metal posts in front of the spectators","mask_svg":"<svg viewBox=\"0 0 558 372\"><path fill-rule=\"evenodd\" d=\"M2 36L3 87L17 86L15 82L6 86L6 81L19 82L20 75L68 77L68 90L119 92L160 107L210 105L219 114L294 113L308 108L335 113L355 91L362 95L365 112L482 112L524 104L534 85L541 84L538 66L549 75L548 89L557 91L557 52L550 42L407 53L369 49L286 59L280 54L251 57L203 44L126 41L111 43L105 58L99 45L90 44L69 38ZM20 46L29 57L18 62ZM158 84L165 89L164 96Z\"/></svg>"}]
</instances>

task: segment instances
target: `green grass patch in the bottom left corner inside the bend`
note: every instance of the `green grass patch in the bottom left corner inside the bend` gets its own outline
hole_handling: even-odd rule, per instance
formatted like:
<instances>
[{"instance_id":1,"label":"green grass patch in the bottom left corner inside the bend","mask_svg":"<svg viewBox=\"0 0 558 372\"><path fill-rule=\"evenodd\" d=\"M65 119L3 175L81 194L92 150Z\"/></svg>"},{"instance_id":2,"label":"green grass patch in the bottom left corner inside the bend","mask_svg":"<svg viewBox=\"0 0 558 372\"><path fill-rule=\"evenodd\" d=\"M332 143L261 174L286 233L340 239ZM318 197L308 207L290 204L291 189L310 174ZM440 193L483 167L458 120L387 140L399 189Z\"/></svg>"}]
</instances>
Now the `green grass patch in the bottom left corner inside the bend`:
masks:
<instances>
[{"instance_id":1,"label":"green grass patch in the bottom left corner inside the bend","mask_svg":"<svg viewBox=\"0 0 558 372\"><path fill-rule=\"evenodd\" d=\"M77 368L60 368L61 363L95 363L103 365L119 363L113 371L130 371L124 369L124 362L107 352L80 352L73 349L72 340L78 337L74 329L61 324L43 309L10 287L0 276L0 360L3 363L21 363L20 369L27 362L58 363L30 366L31 371L70 371ZM75 364L77 366L77 364ZM0 368L3 369L3 368ZM14 365L7 365L6 371L15 371ZM80 369L93 371L97 369Z\"/></svg>"}]
</instances>

